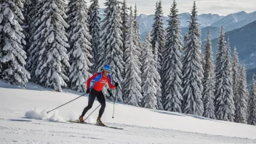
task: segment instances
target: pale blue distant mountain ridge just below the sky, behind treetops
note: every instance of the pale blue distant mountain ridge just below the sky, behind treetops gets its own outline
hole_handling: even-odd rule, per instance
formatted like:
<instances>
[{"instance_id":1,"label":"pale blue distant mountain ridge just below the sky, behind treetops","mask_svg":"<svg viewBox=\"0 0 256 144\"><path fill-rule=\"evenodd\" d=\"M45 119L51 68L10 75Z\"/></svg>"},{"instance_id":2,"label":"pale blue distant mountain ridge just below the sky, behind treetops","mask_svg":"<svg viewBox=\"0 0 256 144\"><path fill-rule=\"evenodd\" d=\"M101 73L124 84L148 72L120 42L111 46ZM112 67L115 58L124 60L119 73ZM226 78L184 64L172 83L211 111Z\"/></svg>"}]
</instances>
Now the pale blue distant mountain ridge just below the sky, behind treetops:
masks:
<instances>
[{"instance_id":1,"label":"pale blue distant mountain ridge just below the sky, behind treetops","mask_svg":"<svg viewBox=\"0 0 256 144\"><path fill-rule=\"evenodd\" d=\"M180 18L180 28L182 29L182 33L187 32L188 28L188 21L190 20L191 14L188 12L181 13L179 15ZM144 39L146 36L147 31L152 30L153 25L153 15L139 15L137 17L139 27L140 27L140 36L141 39ZM220 16L217 14L201 14L198 16L199 23L201 24L200 28L202 30L202 37L201 40L203 41L207 36L207 31L210 30L212 32L212 39L217 38L217 33L219 33L221 25L224 26L225 32L232 31L236 28L241 28L244 25L252 23L256 20L256 11L247 13L244 11L232 13L226 16ZM167 20L169 17L163 17L164 28L167 28ZM205 32L205 33L204 33Z\"/></svg>"}]
</instances>

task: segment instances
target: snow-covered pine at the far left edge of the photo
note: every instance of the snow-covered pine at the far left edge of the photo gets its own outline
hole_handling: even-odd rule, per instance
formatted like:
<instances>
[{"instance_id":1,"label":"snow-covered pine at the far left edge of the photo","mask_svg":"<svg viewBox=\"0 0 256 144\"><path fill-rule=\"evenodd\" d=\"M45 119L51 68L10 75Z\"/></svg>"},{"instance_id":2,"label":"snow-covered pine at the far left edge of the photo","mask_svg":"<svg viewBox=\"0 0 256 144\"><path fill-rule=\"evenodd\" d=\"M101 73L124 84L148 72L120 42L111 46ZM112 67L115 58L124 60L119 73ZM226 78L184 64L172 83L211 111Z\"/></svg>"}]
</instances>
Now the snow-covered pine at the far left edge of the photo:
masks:
<instances>
[{"instance_id":1,"label":"snow-covered pine at the far left edge of the photo","mask_svg":"<svg viewBox=\"0 0 256 144\"><path fill-rule=\"evenodd\" d=\"M21 1L1 1L0 7L0 31L1 39L1 65L2 78L10 84L23 84L28 82L30 74L25 70L26 53L23 50L25 35L20 23L23 22L23 7Z\"/></svg>"}]
</instances>

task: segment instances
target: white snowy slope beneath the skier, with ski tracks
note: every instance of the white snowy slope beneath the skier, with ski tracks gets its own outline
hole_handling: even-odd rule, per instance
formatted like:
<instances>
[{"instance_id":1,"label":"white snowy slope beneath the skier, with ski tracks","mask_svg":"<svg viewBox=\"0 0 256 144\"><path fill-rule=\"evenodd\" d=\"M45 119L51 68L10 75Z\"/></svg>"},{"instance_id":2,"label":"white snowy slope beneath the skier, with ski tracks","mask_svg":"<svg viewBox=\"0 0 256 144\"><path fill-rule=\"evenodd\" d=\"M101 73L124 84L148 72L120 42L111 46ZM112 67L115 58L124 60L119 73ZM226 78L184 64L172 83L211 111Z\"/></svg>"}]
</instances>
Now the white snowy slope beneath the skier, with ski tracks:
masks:
<instances>
[{"instance_id":1,"label":"white snowy slope beneath the skier, with ski tracks","mask_svg":"<svg viewBox=\"0 0 256 144\"><path fill-rule=\"evenodd\" d=\"M87 97L46 113L79 95L68 89L53 92L31 83L23 89L0 81L0 143L256 143L254 126L183 113L116 104L112 119L111 102L102 120L124 130L66 122L79 117ZM97 105L95 101L89 113ZM97 113L88 121L95 122Z\"/></svg>"}]
</instances>

